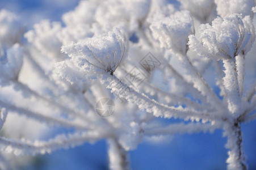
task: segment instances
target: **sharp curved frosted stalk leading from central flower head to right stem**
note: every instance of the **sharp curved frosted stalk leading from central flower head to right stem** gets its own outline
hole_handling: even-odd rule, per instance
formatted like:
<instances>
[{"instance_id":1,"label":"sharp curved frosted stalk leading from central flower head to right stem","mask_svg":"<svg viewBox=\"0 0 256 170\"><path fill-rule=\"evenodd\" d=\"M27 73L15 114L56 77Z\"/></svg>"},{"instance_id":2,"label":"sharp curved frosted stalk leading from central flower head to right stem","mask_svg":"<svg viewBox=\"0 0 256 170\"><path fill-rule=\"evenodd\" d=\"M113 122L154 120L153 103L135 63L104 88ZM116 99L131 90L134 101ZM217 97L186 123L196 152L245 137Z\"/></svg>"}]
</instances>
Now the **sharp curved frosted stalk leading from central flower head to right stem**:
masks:
<instances>
[{"instance_id":1,"label":"sharp curved frosted stalk leading from central flower head to right stem","mask_svg":"<svg viewBox=\"0 0 256 170\"><path fill-rule=\"evenodd\" d=\"M189 109L169 107L158 103L156 100L150 99L145 94L141 94L138 91L135 91L132 87L128 87L127 84L121 82L115 75L105 75L107 77L101 78L102 83L116 95L124 97L128 101L138 105L140 109L145 109L146 112L153 113L156 117L165 117L165 118L183 118L184 120L215 120L217 115L216 112L209 113L197 112ZM117 88L118 87L118 88Z\"/></svg>"}]
</instances>

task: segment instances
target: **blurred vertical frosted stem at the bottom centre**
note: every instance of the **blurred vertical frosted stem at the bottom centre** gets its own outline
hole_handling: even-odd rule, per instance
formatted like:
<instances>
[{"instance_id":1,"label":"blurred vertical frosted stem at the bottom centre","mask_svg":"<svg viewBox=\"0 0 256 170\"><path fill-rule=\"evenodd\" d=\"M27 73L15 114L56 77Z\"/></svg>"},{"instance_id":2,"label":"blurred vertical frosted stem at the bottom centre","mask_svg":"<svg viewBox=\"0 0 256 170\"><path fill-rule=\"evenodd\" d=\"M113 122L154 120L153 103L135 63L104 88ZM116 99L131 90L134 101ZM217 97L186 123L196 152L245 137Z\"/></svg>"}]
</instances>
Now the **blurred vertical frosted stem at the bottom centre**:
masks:
<instances>
[{"instance_id":1,"label":"blurred vertical frosted stem at the bottom centre","mask_svg":"<svg viewBox=\"0 0 256 170\"><path fill-rule=\"evenodd\" d=\"M116 139L108 139L108 158L111 170L128 170L129 158L128 152L117 142Z\"/></svg>"}]
</instances>

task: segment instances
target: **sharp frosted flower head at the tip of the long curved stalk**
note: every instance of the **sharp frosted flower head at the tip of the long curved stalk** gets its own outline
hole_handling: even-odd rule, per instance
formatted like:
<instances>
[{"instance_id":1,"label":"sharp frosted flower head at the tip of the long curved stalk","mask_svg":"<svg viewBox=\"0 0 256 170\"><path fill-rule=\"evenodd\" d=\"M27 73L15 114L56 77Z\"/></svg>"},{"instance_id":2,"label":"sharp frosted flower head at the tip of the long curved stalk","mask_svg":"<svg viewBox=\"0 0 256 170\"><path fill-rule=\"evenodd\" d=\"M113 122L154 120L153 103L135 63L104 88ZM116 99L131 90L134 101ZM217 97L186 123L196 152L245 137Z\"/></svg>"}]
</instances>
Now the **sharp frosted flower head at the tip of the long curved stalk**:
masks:
<instances>
[{"instance_id":1,"label":"sharp frosted flower head at the tip of the long curved stalk","mask_svg":"<svg viewBox=\"0 0 256 170\"><path fill-rule=\"evenodd\" d=\"M113 74L127 55L127 48L127 37L120 29L114 28L104 36L71 42L62 46L61 51L69 54L72 62L81 69L96 71L98 68Z\"/></svg>"}]
</instances>

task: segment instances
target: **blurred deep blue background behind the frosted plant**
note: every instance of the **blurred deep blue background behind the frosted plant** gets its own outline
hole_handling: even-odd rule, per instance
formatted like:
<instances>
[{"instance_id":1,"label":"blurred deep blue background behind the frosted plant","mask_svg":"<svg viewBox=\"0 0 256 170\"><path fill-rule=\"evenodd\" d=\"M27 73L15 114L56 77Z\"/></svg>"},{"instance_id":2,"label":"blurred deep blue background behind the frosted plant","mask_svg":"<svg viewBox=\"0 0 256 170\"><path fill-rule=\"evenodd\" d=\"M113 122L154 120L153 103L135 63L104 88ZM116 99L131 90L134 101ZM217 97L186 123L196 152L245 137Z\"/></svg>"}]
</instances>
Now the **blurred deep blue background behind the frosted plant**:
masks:
<instances>
[{"instance_id":1,"label":"blurred deep blue background behind the frosted plant","mask_svg":"<svg viewBox=\"0 0 256 170\"><path fill-rule=\"evenodd\" d=\"M28 25L28 29L41 19L61 21L62 14L77 5L77 0L0 0L0 8L26 18L24 24ZM256 169L255 130L255 121L242 125L249 169ZM226 169L228 155L222 130L213 134L175 135L169 141L159 144L142 142L137 150L129 152L132 169ZM51 155L36 156L31 165L22 168L108 169L107 144L104 140L85 143L69 150L55 151Z\"/></svg>"}]
</instances>

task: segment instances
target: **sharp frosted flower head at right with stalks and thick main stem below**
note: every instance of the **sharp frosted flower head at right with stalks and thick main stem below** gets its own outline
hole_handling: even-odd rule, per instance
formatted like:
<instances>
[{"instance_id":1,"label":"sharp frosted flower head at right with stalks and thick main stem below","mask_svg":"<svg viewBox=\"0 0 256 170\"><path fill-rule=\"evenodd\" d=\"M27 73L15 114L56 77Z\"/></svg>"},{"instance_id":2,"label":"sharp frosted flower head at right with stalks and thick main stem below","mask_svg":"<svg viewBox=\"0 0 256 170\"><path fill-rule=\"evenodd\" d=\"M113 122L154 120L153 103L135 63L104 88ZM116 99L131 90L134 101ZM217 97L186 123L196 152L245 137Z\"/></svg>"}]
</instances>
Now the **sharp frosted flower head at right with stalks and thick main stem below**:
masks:
<instances>
[{"instance_id":1,"label":"sharp frosted flower head at right with stalks and thick main stem below","mask_svg":"<svg viewBox=\"0 0 256 170\"><path fill-rule=\"evenodd\" d=\"M201 57L223 60L223 85L228 113L223 111L222 121L228 136L229 169L246 169L244 150L242 148L241 122L250 113L244 105L251 104L244 96L245 55L255 39L254 26L249 16L232 14L224 19L213 20L212 25L205 24L199 28L200 38L190 36L188 44ZM253 87L255 88L255 87ZM225 114L230 114L227 118Z\"/></svg>"}]
</instances>

